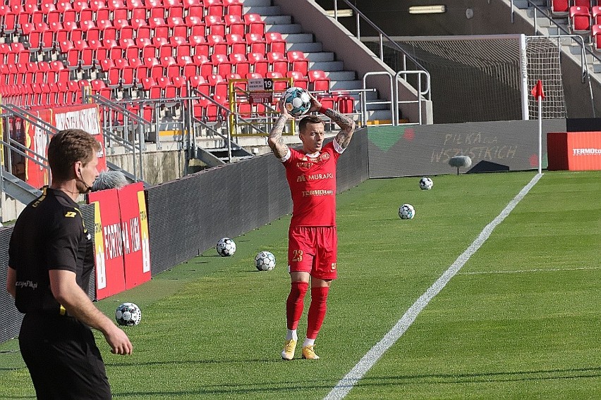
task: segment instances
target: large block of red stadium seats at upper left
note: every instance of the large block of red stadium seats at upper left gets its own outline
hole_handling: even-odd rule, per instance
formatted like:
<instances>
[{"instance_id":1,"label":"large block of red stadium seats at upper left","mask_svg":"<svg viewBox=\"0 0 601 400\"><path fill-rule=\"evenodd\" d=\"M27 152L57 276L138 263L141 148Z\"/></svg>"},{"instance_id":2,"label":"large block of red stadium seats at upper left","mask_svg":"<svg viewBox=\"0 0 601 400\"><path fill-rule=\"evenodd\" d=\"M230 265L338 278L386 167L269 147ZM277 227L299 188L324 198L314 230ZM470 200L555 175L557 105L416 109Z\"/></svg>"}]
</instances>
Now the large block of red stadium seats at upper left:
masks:
<instances>
[{"instance_id":1,"label":"large block of red stadium seats at upper left","mask_svg":"<svg viewBox=\"0 0 601 400\"><path fill-rule=\"evenodd\" d=\"M159 85L161 78L181 83L181 77L232 73L290 77L301 87L329 90L323 72L310 73L303 51L290 51L280 32L266 32L261 15L245 13L239 0L11 1L0 14L6 64L1 82L23 89L4 89L23 106L40 106L47 99L50 106L65 104L75 98L68 87L90 82L95 94L114 100L179 96L181 89L167 90ZM19 73L18 65L25 63L30 73ZM56 70L40 63L54 63ZM40 80L57 95L41 93L47 86L33 85ZM223 100L222 93L212 95Z\"/></svg>"}]
</instances>

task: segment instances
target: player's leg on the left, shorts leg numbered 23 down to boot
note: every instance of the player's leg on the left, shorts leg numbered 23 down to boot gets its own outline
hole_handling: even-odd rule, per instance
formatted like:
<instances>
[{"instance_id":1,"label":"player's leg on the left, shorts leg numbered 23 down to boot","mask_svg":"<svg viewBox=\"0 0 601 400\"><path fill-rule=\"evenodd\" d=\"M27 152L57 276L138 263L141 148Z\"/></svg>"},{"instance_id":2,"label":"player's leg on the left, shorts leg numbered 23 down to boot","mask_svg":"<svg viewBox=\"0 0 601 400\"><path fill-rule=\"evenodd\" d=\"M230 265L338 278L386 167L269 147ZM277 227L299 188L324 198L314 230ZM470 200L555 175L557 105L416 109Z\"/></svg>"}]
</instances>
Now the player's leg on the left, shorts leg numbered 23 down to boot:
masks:
<instances>
[{"instance_id":1,"label":"player's leg on the left, shorts leg numbered 23 down to boot","mask_svg":"<svg viewBox=\"0 0 601 400\"><path fill-rule=\"evenodd\" d=\"M290 293L286 299L286 340L281 358L291 360L296 350L298 335L296 328L303 315L305 294L309 287L312 254L308 250L308 235L303 228L289 230L288 265L290 273Z\"/></svg>"}]
</instances>

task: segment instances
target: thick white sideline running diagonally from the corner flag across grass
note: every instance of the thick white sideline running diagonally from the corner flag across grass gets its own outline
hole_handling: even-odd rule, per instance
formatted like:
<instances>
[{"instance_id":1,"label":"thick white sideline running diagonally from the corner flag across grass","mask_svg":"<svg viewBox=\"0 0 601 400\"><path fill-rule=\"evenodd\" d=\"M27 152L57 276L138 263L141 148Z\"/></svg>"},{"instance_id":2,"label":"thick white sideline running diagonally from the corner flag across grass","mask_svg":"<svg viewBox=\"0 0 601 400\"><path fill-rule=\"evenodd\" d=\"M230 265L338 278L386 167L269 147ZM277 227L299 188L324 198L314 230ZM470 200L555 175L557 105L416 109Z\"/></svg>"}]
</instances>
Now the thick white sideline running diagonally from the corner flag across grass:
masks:
<instances>
[{"instance_id":1,"label":"thick white sideline running diagonally from the corner flag across grass","mask_svg":"<svg viewBox=\"0 0 601 400\"><path fill-rule=\"evenodd\" d=\"M374 366L376 361L382 357L385 351L390 349L390 347L396 343L397 340L403 335L403 333L408 330L408 328L413 324L415 318L418 318L419 313L427 306L428 303L434 296L439 294L439 292L449 283L451 277L454 277L456 273L459 272L461 267L465 265L465 263L470 259L473 254L480 249L480 246L486 242L486 239L490 237L492 230L494 230L497 225L502 223L502 221L506 218L509 213L517 206L517 204L523 199L526 194L532 189L532 187L540 180L542 174L538 173L535 177L530 180L528 185L523 187L517 196L514 197L513 200L507 204L507 206L501 211L497 218L494 218L491 223L486 225L480 235L470 244L466 251L463 251L463 254L459 256L455 262L449 267L448 270L444 271L444 273L438 278L436 282L427 289L424 294L420 296L415 303L406 311L406 313L401 317L399 322L392 327L391 330L388 331L382 340L375 344L370 351L368 351L363 358L359 360L358 363L351 369L339 382L336 386L324 397L324 400L339 400L344 399L344 397L351 392L351 389L356 385L356 383L365 375Z\"/></svg>"}]
</instances>

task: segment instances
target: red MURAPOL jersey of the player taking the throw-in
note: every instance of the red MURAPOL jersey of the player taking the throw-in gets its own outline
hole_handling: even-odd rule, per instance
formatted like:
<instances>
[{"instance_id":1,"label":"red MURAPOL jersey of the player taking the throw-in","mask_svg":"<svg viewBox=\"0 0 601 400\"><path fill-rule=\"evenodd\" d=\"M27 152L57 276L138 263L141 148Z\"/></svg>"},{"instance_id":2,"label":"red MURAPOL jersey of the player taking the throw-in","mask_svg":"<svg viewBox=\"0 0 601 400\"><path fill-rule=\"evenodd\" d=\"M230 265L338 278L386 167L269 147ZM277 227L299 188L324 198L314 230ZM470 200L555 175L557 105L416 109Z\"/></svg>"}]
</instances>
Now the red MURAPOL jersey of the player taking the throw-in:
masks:
<instances>
[{"instance_id":1,"label":"red MURAPOL jersey of the player taking the throw-in","mask_svg":"<svg viewBox=\"0 0 601 400\"><path fill-rule=\"evenodd\" d=\"M340 153L334 141L316 157L290 149L286 179L292 195L290 226L336 226L336 163Z\"/></svg>"}]
</instances>

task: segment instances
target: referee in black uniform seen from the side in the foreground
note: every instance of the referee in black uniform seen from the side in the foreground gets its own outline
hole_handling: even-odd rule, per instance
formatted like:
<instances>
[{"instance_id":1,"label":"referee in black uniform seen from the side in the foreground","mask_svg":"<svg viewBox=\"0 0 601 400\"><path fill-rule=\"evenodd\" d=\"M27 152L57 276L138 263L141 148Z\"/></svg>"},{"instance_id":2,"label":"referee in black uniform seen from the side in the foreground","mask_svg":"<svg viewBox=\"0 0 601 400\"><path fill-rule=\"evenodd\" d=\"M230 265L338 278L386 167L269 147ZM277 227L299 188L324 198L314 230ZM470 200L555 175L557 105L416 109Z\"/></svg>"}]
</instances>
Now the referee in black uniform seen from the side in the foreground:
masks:
<instances>
[{"instance_id":1,"label":"referee in black uniform seen from the side in the foreground","mask_svg":"<svg viewBox=\"0 0 601 400\"><path fill-rule=\"evenodd\" d=\"M19 347L38 399L111 399L90 327L102 332L112 353L133 349L87 296L94 251L75 200L98 175L100 149L83 130L54 135L48 146L52 183L19 215L11 237L6 289L25 313Z\"/></svg>"}]
</instances>

